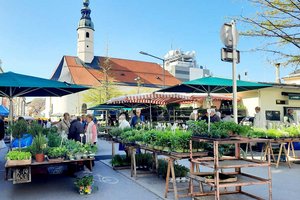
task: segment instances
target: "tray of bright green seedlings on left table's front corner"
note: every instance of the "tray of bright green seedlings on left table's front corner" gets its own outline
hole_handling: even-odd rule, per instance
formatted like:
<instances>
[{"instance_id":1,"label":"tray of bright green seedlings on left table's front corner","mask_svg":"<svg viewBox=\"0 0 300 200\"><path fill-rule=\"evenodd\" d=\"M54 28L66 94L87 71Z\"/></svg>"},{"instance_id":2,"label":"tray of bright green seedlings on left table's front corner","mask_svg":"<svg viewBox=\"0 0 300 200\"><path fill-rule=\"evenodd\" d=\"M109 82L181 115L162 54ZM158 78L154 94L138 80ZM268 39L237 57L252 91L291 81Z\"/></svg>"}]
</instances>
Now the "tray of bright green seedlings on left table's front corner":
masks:
<instances>
[{"instance_id":1,"label":"tray of bright green seedlings on left table's front corner","mask_svg":"<svg viewBox=\"0 0 300 200\"><path fill-rule=\"evenodd\" d=\"M8 165L27 165L31 164L31 153L23 151L9 151L6 154Z\"/></svg>"}]
</instances>

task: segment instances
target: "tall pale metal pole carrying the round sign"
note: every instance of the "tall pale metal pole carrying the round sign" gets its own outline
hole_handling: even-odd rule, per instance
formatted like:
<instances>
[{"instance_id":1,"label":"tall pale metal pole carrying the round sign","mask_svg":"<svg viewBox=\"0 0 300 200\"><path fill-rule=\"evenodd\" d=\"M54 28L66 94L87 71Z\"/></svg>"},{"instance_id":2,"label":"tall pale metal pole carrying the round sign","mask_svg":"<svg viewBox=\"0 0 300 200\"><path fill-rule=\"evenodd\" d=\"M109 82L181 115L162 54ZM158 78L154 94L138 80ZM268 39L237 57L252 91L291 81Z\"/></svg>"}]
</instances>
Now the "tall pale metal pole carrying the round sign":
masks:
<instances>
[{"instance_id":1,"label":"tall pale metal pole carrying the round sign","mask_svg":"<svg viewBox=\"0 0 300 200\"><path fill-rule=\"evenodd\" d=\"M232 106L233 106L233 116L235 123L238 123L237 117L237 84L236 84L236 62L237 62L237 53L236 53L236 43L237 43L237 35L236 35L236 27L235 21L231 21L231 31L232 31Z\"/></svg>"}]
</instances>

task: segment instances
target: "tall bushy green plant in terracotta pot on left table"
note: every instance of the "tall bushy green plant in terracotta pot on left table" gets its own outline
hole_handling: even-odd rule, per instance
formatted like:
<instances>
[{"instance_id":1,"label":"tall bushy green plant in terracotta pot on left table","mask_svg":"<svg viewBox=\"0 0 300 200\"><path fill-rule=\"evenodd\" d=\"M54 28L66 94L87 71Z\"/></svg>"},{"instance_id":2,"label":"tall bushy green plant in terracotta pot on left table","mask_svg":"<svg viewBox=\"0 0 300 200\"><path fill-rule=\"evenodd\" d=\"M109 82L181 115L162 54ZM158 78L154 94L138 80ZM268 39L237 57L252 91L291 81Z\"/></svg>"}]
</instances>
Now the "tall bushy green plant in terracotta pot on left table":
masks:
<instances>
[{"instance_id":1,"label":"tall bushy green plant in terracotta pot on left table","mask_svg":"<svg viewBox=\"0 0 300 200\"><path fill-rule=\"evenodd\" d=\"M34 140L31 145L32 154L35 155L36 162L43 162L44 161L44 152L47 147L47 139L44 135L39 133L37 136L34 137Z\"/></svg>"}]
</instances>

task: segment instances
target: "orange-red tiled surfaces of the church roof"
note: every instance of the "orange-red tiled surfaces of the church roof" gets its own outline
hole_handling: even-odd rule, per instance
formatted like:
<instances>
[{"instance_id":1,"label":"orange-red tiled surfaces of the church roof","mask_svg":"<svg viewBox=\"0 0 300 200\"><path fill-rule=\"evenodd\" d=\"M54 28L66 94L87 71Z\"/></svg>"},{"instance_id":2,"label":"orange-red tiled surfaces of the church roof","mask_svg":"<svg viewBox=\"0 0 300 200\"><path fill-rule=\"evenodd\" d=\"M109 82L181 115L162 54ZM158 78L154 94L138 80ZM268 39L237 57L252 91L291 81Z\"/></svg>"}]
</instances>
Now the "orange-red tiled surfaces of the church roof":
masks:
<instances>
[{"instance_id":1,"label":"orange-red tiled surfaces of the church roof","mask_svg":"<svg viewBox=\"0 0 300 200\"><path fill-rule=\"evenodd\" d=\"M100 58L100 65L105 66L104 61L106 58L97 58ZM104 74L100 66L97 66L99 69L86 67L80 62L76 62L77 57L74 56L65 56L65 59L75 84L90 86L100 85L99 81L104 78ZM134 79L139 76L142 84L157 86L163 85L163 69L156 63L119 58L109 58L109 60L109 65L111 67L109 69L109 74L115 82L137 84ZM165 82L166 86L172 86L180 83L180 81L168 71L165 71Z\"/></svg>"}]
</instances>

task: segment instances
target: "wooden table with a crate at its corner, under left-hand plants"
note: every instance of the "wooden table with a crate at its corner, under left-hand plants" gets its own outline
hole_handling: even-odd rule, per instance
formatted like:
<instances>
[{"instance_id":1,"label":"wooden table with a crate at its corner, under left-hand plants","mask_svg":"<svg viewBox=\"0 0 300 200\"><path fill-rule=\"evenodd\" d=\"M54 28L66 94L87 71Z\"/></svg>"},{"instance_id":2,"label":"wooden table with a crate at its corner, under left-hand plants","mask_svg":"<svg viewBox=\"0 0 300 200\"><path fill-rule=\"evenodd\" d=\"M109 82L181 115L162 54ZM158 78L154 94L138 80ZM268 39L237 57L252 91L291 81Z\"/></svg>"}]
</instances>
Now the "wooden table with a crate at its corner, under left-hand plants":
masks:
<instances>
[{"instance_id":1,"label":"wooden table with a crate at its corner, under left-hand plants","mask_svg":"<svg viewBox=\"0 0 300 200\"><path fill-rule=\"evenodd\" d=\"M28 183L31 182L31 169L33 167L47 167L52 165L62 165L62 164L78 164L78 163L88 163L86 166L87 168L92 171L93 168L93 161L95 158L85 158L80 160L63 160L63 161L44 161L44 162L35 162L33 160L30 164L25 165L9 165L7 162L5 163L5 180L13 180L14 183ZM13 177L8 177L10 172L13 173ZM16 181L16 176L19 177L19 180Z\"/></svg>"}]
</instances>

